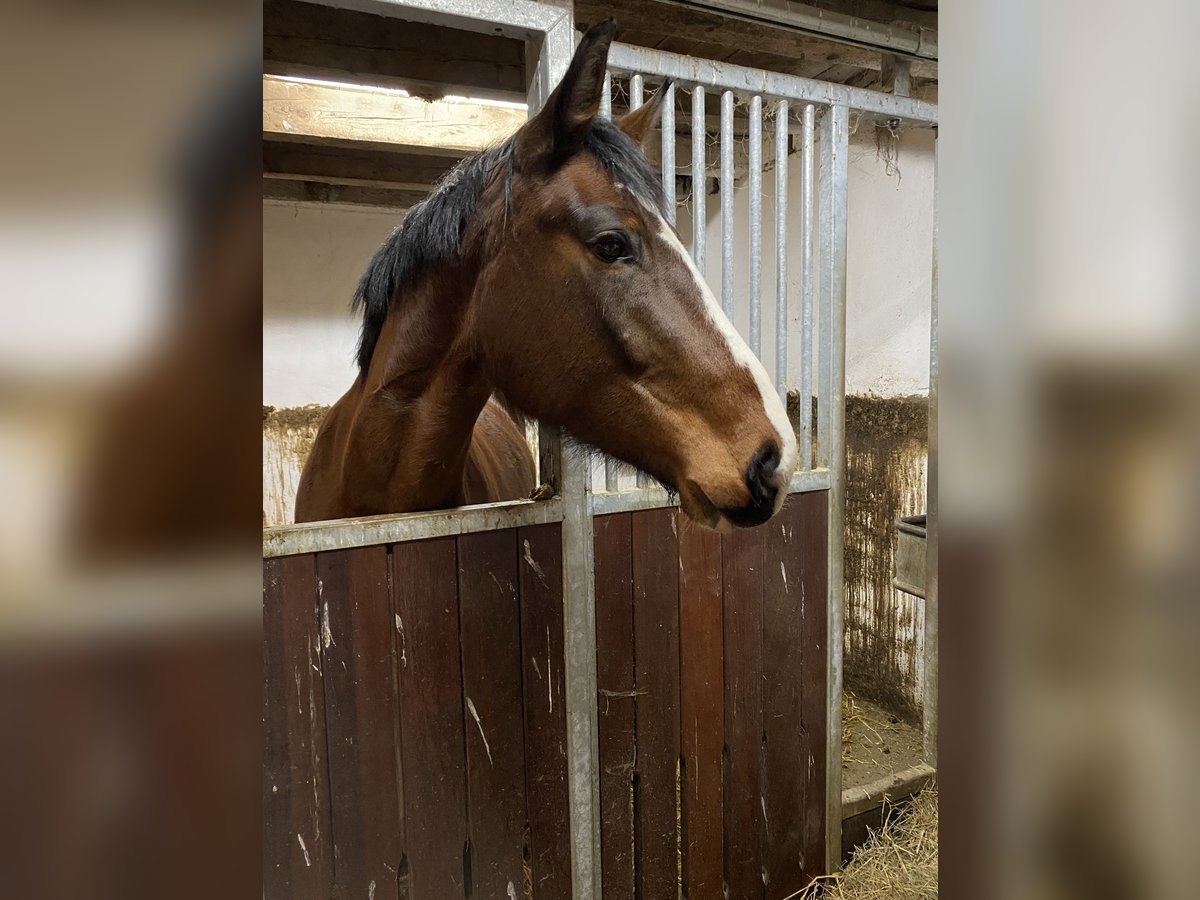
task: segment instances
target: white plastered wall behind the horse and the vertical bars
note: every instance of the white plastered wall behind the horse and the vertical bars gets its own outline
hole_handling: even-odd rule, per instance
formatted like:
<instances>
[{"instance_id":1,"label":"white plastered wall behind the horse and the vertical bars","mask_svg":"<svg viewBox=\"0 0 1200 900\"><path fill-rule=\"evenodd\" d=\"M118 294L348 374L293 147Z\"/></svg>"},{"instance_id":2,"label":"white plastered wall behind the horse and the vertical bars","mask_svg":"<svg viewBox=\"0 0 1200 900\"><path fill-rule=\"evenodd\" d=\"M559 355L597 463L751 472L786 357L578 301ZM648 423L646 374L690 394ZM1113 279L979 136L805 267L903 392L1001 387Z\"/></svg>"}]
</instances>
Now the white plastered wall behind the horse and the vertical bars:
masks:
<instances>
[{"instance_id":1,"label":"white plastered wall behind the horse and the vertical bars","mask_svg":"<svg viewBox=\"0 0 1200 900\"><path fill-rule=\"evenodd\" d=\"M769 126L764 128L769 134ZM769 162L770 138L763 158ZM714 152L710 149L710 152ZM680 168L689 164L685 148ZM905 396L929 389L929 296L932 234L932 136L906 132L899 176L877 158L875 133L851 138L847 247L846 390ZM790 157L790 359L799 384L799 157ZM774 173L763 173L763 361L774 372ZM682 198L680 198L682 199ZM720 295L720 197L709 196L707 277ZM358 319L349 302L371 254L402 212L332 204L263 204L263 402L332 403L354 380ZM734 322L749 329L749 194L734 191ZM690 208L679 230L691 241Z\"/></svg>"}]
</instances>

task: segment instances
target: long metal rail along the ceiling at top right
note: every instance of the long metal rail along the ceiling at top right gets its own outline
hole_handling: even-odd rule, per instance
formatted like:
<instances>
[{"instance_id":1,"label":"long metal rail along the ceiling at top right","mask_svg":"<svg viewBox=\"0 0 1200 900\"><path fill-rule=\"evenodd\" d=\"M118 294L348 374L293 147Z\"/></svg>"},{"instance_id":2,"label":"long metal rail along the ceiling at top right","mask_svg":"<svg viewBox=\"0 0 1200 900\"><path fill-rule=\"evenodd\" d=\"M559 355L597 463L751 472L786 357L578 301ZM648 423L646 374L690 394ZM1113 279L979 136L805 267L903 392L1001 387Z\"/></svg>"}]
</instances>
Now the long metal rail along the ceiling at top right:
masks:
<instances>
[{"instance_id":1,"label":"long metal rail along the ceiling at top right","mask_svg":"<svg viewBox=\"0 0 1200 900\"><path fill-rule=\"evenodd\" d=\"M708 7L740 19L763 22L775 28L782 25L790 31L821 35L838 43L870 50L904 53L925 60L937 59L937 31L920 25L888 25L797 2L767 5L762 0L691 0L690 5Z\"/></svg>"}]
</instances>

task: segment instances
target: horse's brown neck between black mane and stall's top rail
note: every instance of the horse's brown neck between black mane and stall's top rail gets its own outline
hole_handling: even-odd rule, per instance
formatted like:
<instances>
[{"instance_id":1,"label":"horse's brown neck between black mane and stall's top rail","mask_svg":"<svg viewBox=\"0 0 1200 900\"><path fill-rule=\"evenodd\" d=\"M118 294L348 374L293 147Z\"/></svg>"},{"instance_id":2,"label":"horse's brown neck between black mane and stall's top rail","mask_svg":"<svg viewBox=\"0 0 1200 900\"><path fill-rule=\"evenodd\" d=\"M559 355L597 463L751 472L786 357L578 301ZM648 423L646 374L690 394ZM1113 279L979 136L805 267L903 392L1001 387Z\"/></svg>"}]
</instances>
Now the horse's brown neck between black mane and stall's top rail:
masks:
<instances>
[{"instance_id":1,"label":"horse's brown neck between black mane and stall's top rail","mask_svg":"<svg viewBox=\"0 0 1200 900\"><path fill-rule=\"evenodd\" d=\"M466 296L437 287L396 301L376 344L343 470L362 499L355 505L406 511L463 503L472 433L491 388L462 332Z\"/></svg>"}]
</instances>

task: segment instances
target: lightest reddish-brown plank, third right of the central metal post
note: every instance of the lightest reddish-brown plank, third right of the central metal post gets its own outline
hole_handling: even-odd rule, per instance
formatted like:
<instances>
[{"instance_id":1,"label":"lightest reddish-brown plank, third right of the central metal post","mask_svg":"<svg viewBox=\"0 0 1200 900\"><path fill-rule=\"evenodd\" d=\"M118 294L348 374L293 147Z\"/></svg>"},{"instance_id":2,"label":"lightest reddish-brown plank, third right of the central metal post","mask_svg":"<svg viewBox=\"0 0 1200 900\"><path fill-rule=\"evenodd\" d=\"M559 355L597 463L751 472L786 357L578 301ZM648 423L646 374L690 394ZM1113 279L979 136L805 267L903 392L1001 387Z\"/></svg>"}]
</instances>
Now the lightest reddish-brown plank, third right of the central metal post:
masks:
<instances>
[{"instance_id":1,"label":"lightest reddish-brown plank, third right of the central metal post","mask_svg":"<svg viewBox=\"0 0 1200 900\"><path fill-rule=\"evenodd\" d=\"M725 736L721 538L679 517L679 724L683 881L689 900L721 900Z\"/></svg>"}]
</instances>

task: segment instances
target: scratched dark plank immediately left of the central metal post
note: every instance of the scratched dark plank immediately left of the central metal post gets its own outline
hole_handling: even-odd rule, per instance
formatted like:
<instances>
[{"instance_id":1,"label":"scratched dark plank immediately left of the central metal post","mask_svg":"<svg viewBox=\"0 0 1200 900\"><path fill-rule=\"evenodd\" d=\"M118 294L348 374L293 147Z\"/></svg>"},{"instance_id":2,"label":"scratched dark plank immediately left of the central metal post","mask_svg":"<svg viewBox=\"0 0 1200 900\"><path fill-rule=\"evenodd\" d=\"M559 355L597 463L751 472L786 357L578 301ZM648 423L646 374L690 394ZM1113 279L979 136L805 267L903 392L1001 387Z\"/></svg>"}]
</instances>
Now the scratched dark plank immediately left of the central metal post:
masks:
<instances>
[{"instance_id":1,"label":"scratched dark plank immediately left of the central metal post","mask_svg":"<svg viewBox=\"0 0 1200 900\"><path fill-rule=\"evenodd\" d=\"M524 679L528 857L535 898L571 895L563 683L562 526L517 532Z\"/></svg>"}]
</instances>

